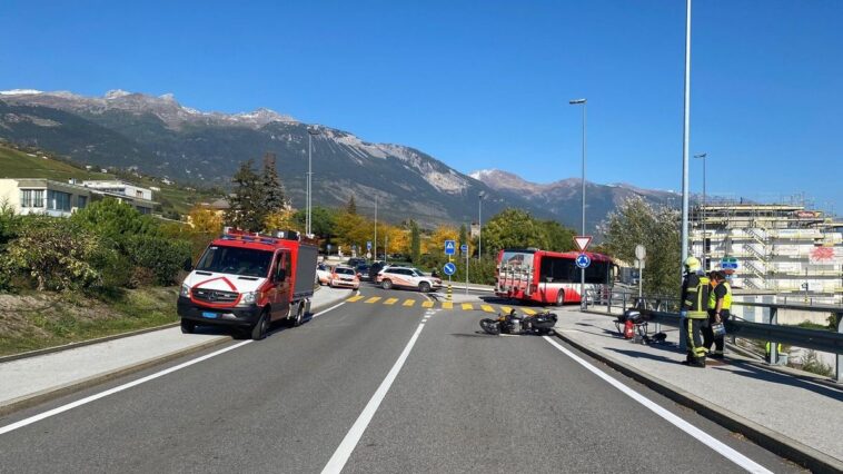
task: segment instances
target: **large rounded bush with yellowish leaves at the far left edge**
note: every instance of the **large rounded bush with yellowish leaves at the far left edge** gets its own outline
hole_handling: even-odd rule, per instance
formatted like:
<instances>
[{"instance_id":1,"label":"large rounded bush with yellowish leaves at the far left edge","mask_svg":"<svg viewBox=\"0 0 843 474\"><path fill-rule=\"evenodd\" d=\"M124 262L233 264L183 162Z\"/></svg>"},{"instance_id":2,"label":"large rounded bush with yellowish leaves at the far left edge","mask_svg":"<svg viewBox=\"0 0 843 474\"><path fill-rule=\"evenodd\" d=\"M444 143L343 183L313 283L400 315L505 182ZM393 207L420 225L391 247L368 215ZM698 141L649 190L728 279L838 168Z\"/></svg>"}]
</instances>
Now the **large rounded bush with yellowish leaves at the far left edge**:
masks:
<instances>
[{"instance_id":1,"label":"large rounded bush with yellowish leaves at the far left edge","mask_svg":"<svg viewBox=\"0 0 843 474\"><path fill-rule=\"evenodd\" d=\"M91 264L101 251L95 234L68 219L31 216L22 220L20 235L9 243L6 273L22 271L38 283L38 290L82 288L100 283Z\"/></svg>"}]
</instances>

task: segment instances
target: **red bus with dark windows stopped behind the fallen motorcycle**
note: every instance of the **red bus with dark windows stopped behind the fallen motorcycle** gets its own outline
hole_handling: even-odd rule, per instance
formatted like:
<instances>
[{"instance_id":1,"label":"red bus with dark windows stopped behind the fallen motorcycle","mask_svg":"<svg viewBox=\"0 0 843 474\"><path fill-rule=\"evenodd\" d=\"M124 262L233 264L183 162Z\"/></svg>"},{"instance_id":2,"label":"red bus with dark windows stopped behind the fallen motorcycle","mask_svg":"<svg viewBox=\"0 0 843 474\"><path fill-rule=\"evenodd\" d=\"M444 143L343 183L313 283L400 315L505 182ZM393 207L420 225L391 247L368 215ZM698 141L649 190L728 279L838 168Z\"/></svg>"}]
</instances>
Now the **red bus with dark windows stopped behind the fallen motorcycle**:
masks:
<instances>
[{"instance_id":1,"label":"red bus with dark windows stopped behind the fallen motorcycle","mask_svg":"<svg viewBox=\"0 0 843 474\"><path fill-rule=\"evenodd\" d=\"M616 265L602 254L585 253L592 264L585 269L585 289L612 285ZM495 295L562 306L579 303L579 267L576 251L506 248L497 256Z\"/></svg>"}]
</instances>

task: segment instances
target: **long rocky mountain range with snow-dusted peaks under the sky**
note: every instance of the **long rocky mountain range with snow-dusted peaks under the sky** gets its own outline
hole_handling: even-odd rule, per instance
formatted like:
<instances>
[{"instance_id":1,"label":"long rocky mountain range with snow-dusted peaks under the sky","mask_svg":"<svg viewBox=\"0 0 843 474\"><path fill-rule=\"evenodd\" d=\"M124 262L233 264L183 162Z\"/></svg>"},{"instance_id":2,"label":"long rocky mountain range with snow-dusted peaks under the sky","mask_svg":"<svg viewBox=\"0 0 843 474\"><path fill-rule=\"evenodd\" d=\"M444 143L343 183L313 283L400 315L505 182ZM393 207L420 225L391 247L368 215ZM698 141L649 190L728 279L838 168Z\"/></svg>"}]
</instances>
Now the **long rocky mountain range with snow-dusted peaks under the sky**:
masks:
<instances>
[{"instance_id":1,"label":"long rocky mountain range with snow-dusted peaks under the sky","mask_svg":"<svg viewBox=\"0 0 843 474\"><path fill-rule=\"evenodd\" d=\"M466 175L411 147L367 142L265 108L206 112L180 105L172 95L123 90L103 97L0 91L0 138L82 164L220 186L229 184L242 161L259 164L264 154L271 152L295 207L305 201L313 139L314 205L340 206L355 196L366 214L374 213L377 199L379 216L394 221L469 223L476 220L483 192L484 216L518 207L579 228L578 179L539 185L494 169ZM586 182L589 231L629 196L661 205L677 203L673 192Z\"/></svg>"}]
</instances>

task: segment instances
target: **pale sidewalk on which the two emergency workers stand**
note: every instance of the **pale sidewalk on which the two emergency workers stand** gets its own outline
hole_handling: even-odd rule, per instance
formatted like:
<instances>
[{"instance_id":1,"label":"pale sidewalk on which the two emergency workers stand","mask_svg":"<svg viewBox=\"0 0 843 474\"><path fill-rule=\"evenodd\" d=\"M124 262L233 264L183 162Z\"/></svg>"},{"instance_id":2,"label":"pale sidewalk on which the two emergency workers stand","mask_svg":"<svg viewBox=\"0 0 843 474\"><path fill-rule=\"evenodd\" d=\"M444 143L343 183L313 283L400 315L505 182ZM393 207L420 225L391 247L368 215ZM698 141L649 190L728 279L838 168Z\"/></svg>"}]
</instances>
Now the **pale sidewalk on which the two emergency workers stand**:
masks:
<instances>
[{"instance_id":1,"label":"pale sidewalk on which the two emergency workers stand","mask_svg":"<svg viewBox=\"0 0 843 474\"><path fill-rule=\"evenodd\" d=\"M813 454L831 456L826 461L836 462L837 470L843 467L843 387L783 374L728 349L725 362L708 359L705 369L687 367L681 364L685 354L676 347L675 328L662 326L668 344L633 344L619 337L611 316L574 308L557 314L556 329L562 338L615 368L631 369L668 392L696 397L720 415L770 429L782 442L797 448L806 446L807 452L816 450L819 453Z\"/></svg>"}]
</instances>

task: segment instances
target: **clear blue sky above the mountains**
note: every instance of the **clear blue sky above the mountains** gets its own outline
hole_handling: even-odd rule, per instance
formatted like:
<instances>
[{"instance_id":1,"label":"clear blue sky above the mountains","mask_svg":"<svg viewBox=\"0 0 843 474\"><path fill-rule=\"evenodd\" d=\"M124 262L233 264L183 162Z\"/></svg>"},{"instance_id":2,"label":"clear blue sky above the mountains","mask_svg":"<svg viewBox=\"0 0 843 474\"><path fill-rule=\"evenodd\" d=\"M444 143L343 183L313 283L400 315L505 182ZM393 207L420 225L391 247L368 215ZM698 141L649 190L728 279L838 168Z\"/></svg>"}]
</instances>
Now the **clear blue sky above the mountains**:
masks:
<instances>
[{"instance_id":1,"label":"clear blue sky above the mountains","mask_svg":"<svg viewBox=\"0 0 843 474\"><path fill-rule=\"evenodd\" d=\"M241 6L240 3L248 3ZM682 0L6 0L0 89L268 107L460 171L680 189ZM692 152L708 191L843 211L843 1L694 2ZM702 189L692 162L692 189ZM843 213L841 213L843 214Z\"/></svg>"}]
</instances>

